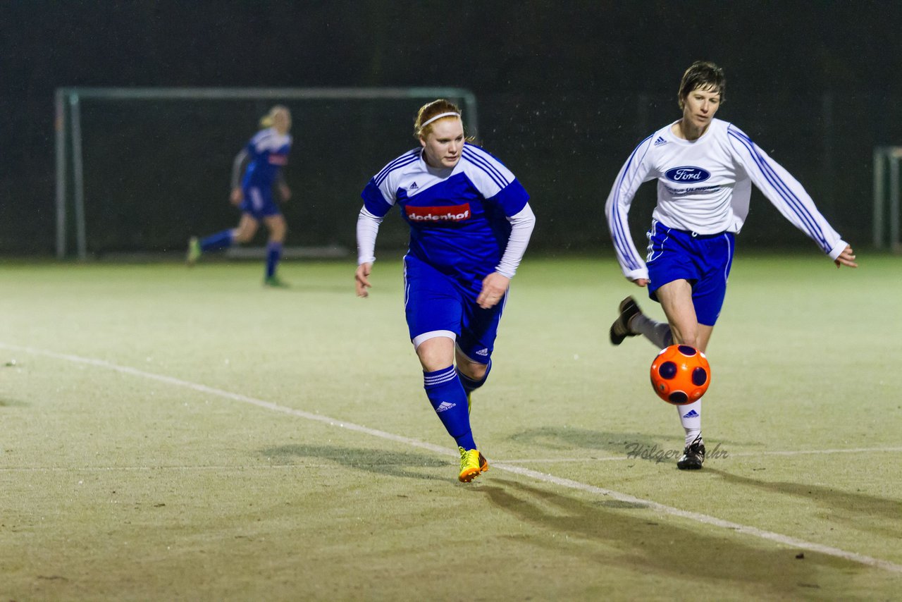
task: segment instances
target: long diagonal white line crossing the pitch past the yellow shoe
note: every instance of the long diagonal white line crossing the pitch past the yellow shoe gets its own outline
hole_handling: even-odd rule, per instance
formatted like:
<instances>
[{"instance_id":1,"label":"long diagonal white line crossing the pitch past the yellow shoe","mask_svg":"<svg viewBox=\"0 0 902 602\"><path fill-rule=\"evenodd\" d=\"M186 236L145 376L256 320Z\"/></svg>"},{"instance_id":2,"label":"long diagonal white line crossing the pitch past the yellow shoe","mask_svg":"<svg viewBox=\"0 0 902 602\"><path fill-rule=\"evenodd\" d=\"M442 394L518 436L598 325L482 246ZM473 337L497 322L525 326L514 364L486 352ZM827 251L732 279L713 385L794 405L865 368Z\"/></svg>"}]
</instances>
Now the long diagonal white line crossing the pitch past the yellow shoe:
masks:
<instances>
[{"instance_id":1,"label":"long diagonal white line crossing the pitch past the yellow shoe","mask_svg":"<svg viewBox=\"0 0 902 602\"><path fill-rule=\"evenodd\" d=\"M298 416L299 418L304 418L310 421L318 421L328 424L329 426L335 426L342 429L347 429L349 431L363 432L367 435L372 435L373 437L378 437L385 440L391 440L398 443L403 443L405 445L409 445L410 447L419 448L419 449L428 449L430 451L434 451L437 454L441 454L443 456L456 456L456 452L443 448L437 445L433 445L431 443L427 443L425 441L410 439L408 437L401 437L400 435L395 435L386 431L378 431L376 429L370 429L368 427L361 426L359 424L354 424L353 422L345 422L345 421L337 421L335 419L329 418L327 416L322 416L320 414L314 414L310 412L303 412L301 410L295 410L293 408L286 407L284 405L279 405L278 403L265 402L260 399L255 399L253 397L248 397L247 395L234 394L228 391L223 391L221 389L216 389L213 387L209 387L204 384L191 383L189 381L181 380L179 378L173 378L171 376L164 375L156 375L151 372L144 372L143 370L137 370L135 368L130 368L128 366L117 366L110 362L106 362L101 359L93 359L90 357L79 357L72 356L68 354L55 353L52 351L46 351L43 349L34 349L32 347L20 347L17 345L9 345L3 342L0 342L0 348L10 349L13 351L22 351L25 353L30 353L34 355L46 356L46 357L54 357L56 359L63 359L69 362L74 362L77 364L87 364L88 366L98 366L107 368L109 370L114 370L115 372L120 372L126 375L133 376L141 376L142 378L147 378L150 380L155 380L161 383L174 384L176 386L182 386L189 388L193 391L197 391L198 393L206 393L211 395L216 395L219 397L225 397L226 399L235 400L237 402L250 403L252 405L256 405L267 410L272 410L273 412L282 412L287 413L292 416ZM805 542L804 540L796 539L795 537L790 537L788 535L783 535L780 533L773 533L770 531L765 531L763 529L758 529L756 527L750 527L745 524L740 523L732 523L731 521L724 521L723 519L717 518L715 516L710 516L708 514L700 514L696 512L689 512L686 510L681 510L679 508L675 508L673 506L658 504L657 502L652 502L651 500L642 499L640 497L634 497L633 495L623 494L619 491L614 491L612 489L605 489L603 487L598 487L594 485L588 485L586 483L581 483L579 481L574 481L569 478L555 477L554 475L549 475L547 473L538 472L537 470L531 470L529 468L523 468L520 466L516 466L511 463L506 462L492 462L492 468L498 468L501 470L506 470L508 472L514 473L516 475L520 475L522 477L529 477L535 480L551 483L553 485L566 487L568 489L575 489L577 491L583 491L585 493L594 494L594 495L606 495L611 497L612 499L618 500L620 502L626 502L633 505L640 505L649 510L654 510L660 514L667 514L670 516L679 516L681 518L686 518L691 521L695 521L696 523L704 523L710 524L716 527L721 527L723 529L729 529L731 531L735 531L737 533L743 533L746 535L751 535L753 537L758 537L760 539L769 540L771 542L777 542L781 545L787 545L794 548L800 548L802 550L808 551L816 551L822 554L826 554L828 556L834 556L837 558L842 558L845 560L851 560L853 562L859 562L861 564L875 567L877 569L888 570L894 573L902 574L902 565L895 564L888 560L880 560L878 558L872 558L870 556L865 556L863 554L859 554L852 551L840 550L839 548L833 548L831 546L822 545L820 543L814 542Z\"/></svg>"}]
</instances>

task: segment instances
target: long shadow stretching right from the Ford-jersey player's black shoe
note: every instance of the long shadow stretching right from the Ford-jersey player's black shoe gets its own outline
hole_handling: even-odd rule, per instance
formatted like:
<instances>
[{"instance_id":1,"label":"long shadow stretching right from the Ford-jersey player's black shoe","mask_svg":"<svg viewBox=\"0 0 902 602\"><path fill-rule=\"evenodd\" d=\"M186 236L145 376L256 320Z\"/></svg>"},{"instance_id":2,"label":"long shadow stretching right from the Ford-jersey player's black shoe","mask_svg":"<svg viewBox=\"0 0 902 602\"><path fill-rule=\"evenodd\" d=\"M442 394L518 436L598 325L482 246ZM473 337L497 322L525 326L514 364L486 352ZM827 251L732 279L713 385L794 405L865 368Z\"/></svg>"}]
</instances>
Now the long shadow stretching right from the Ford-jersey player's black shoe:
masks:
<instances>
[{"instance_id":1,"label":"long shadow stretching right from the Ford-jersey player's black shoe","mask_svg":"<svg viewBox=\"0 0 902 602\"><path fill-rule=\"evenodd\" d=\"M705 472L723 478L734 485L751 486L780 495L795 495L803 498L805 505L814 502L829 514L831 521L846 523L857 530L892 537L902 537L902 526L898 519L902 516L902 501L856 494L832 487L809 485L787 481L763 481L757 478L741 477L715 468L705 468Z\"/></svg>"}]
</instances>

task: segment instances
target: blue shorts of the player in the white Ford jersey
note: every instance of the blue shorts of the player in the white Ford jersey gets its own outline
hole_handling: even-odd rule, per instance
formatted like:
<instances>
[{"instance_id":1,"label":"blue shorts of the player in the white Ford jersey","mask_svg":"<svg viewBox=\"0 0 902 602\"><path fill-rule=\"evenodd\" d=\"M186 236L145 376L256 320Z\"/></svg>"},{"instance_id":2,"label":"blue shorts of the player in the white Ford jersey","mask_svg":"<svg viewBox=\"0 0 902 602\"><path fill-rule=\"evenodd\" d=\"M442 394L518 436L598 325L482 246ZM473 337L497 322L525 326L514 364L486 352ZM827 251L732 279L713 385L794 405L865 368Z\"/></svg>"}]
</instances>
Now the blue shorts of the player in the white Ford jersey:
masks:
<instances>
[{"instance_id":1,"label":"blue shorts of the player in the white Ford jersey","mask_svg":"<svg viewBox=\"0 0 902 602\"><path fill-rule=\"evenodd\" d=\"M667 282L686 280L699 324L713 326L727 292L736 236L731 232L696 235L655 220L649 230L649 297Z\"/></svg>"}]
</instances>

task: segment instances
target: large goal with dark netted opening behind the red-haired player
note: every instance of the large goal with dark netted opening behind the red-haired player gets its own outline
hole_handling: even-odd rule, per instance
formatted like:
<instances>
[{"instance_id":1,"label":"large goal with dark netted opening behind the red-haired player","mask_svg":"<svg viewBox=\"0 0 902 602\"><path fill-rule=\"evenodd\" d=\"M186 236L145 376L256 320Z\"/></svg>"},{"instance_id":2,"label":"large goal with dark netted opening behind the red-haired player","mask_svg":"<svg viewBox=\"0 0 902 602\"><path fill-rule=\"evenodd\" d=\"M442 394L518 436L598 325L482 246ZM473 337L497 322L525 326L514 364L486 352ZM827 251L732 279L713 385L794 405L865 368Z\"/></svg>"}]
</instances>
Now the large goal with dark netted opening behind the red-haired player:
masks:
<instances>
[{"instance_id":1,"label":"large goal with dark netted opening behind the red-haired player","mask_svg":"<svg viewBox=\"0 0 902 602\"><path fill-rule=\"evenodd\" d=\"M462 88L59 88L57 255L183 252L189 236L235 227L233 160L275 104L290 108L294 137L285 255L350 253L361 190L416 144L416 111L438 97L475 135L475 97ZM406 237L386 220L380 245Z\"/></svg>"}]
</instances>

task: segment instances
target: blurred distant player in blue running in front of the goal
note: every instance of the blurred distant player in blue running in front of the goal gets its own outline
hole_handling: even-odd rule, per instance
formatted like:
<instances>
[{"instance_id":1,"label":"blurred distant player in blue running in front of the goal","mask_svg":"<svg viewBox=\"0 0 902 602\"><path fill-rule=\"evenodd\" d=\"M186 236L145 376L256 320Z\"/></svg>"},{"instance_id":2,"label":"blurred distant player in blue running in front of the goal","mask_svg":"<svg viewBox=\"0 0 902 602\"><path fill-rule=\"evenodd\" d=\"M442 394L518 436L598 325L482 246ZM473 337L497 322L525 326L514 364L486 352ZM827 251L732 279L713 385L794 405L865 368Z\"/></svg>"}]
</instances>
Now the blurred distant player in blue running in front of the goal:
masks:
<instances>
[{"instance_id":1,"label":"blurred distant player in blue running in front of the goal","mask_svg":"<svg viewBox=\"0 0 902 602\"><path fill-rule=\"evenodd\" d=\"M241 209L238 227L199 240L192 236L188 242L188 263L195 264L203 253L250 241L257 233L260 222L263 222L270 232L263 284L285 286L276 275L276 268L281 259L287 227L279 205L272 199L272 189L274 186L278 188L283 202L290 199L291 191L282 177L281 168L288 163L291 150L291 113L287 107L277 105L261 119L260 125L263 129L254 134L235 156L233 165L230 200Z\"/></svg>"}]
</instances>

